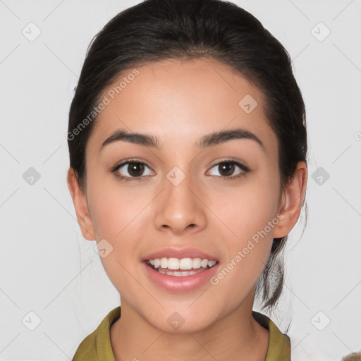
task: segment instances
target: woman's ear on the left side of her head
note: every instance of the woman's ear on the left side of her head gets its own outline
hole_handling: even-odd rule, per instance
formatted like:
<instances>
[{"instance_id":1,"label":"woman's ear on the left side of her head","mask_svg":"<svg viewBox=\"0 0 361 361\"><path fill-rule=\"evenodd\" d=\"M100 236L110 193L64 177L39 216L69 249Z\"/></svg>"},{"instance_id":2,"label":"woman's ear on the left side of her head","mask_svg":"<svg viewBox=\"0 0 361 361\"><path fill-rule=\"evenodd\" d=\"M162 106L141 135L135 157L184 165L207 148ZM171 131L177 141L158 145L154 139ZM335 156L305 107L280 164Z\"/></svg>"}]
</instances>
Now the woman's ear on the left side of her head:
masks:
<instances>
[{"instance_id":1,"label":"woman's ear on the left side of her head","mask_svg":"<svg viewBox=\"0 0 361 361\"><path fill-rule=\"evenodd\" d=\"M68 169L67 181L82 236L87 240L95 240L92 217L87 207L87 197L85 192L80 189L78 178L75 175L74 169L71 167Z\"/></svg>"}]
</instances>

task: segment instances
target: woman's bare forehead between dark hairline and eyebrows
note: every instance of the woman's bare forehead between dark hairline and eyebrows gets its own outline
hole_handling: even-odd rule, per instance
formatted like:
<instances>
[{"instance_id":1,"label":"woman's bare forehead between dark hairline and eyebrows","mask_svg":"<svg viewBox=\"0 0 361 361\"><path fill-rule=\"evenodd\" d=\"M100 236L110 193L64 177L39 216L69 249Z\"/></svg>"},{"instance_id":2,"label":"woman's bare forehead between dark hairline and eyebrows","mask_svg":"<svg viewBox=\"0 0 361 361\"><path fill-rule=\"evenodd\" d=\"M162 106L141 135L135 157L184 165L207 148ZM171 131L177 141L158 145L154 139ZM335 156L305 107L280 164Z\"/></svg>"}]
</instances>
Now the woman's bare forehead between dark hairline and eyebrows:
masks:
<instances>
[{"instance_id":1,"label":"woman's bare forehead between dark hairline and eyebrows","mask_svg":"<svg viewBox=\"0 0 361 361\"><path fill-rule=\"evenodd\" d=\"M120 129L155 135L164 147L188 147L208 133L244 128L269 151L276 147L264 94L215 59L167 59L127 69L100 99L106 106L87 143L94 155Z\"/></svg>"}]
</instances>

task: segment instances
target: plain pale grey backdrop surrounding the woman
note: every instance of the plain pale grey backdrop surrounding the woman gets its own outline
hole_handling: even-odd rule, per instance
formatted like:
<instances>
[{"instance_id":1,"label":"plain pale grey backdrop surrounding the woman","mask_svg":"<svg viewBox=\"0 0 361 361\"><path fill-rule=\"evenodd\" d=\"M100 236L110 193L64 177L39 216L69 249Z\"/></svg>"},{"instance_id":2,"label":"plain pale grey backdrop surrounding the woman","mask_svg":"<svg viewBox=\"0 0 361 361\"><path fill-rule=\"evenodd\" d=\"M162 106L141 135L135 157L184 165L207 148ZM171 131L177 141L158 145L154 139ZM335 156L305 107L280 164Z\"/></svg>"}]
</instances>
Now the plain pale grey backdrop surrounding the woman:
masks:
<instances>
[{"instance_id":1,"label":"plain pale grey backdrop surrounding the woman","mask_svg":"<svg viewBox=\"0 0 361 361\"><path fill-rule=\"evenodd\" d=\"M71 360L118 305L76 221L67 116L90 40L138 2L0 0L0 360ZM361 1L233 2L286 47L307 110L309 218L270 316L294 360L341 360L361 350Z\"/></svg>"}]
</instances>

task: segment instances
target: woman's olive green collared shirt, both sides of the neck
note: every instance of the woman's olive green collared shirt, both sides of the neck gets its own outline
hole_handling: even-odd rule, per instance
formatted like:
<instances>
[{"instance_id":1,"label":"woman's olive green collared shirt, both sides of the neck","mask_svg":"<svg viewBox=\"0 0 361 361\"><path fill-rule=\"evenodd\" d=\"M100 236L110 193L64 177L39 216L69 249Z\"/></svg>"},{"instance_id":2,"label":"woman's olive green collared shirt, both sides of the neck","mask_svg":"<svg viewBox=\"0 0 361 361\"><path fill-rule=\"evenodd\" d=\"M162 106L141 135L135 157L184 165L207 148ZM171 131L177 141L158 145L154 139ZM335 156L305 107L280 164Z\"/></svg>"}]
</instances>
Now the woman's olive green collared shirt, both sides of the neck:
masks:
<instances>
[{"instance_id":1,"label":"woman's olive green collared shirt, both sides of the neck","mask_svg":"<svg viewBox=\"0 0 361 361\"><path fill-rule=\"evenodd\" d=\"M252 311L255 320L269 330L269 348L265 361L290 361L290 338L282 334L266 315ZM78 346L72 361L116 361L110 342L110 327L121 317L121 306L114 308L92 334Z\"/></svg>"}]
</instances>

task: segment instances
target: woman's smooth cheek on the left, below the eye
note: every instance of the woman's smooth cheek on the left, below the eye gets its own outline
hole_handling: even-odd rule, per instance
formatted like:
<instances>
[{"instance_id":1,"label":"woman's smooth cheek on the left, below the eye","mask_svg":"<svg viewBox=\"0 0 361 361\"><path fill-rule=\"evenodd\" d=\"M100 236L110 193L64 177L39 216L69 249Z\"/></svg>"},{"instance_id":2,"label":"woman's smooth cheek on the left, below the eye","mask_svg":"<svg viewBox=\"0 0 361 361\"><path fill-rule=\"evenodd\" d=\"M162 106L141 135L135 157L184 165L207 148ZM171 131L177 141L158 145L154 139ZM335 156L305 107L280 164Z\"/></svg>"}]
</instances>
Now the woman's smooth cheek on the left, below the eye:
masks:
<instances>
[{"instance_id":1,"label":"woman's smooth cheek on the left, below the eye","mask_svg":"<svg viewBox=\"0 0 361 361\"><path fill-rule=\"evenodd\" d=\"M109 249L106 257L100 259L114 283L115 280L122 282L119 275L126 273L124 269L134 267L139 252L138 238L144 225L142 210L149 201L106 178L97 178L94 174L89 177L88 199L96 239L102 240L104 247ZM99 247L102 249L101 245Z\"/></svg>"}]
</instances>

